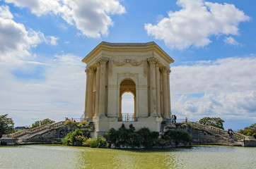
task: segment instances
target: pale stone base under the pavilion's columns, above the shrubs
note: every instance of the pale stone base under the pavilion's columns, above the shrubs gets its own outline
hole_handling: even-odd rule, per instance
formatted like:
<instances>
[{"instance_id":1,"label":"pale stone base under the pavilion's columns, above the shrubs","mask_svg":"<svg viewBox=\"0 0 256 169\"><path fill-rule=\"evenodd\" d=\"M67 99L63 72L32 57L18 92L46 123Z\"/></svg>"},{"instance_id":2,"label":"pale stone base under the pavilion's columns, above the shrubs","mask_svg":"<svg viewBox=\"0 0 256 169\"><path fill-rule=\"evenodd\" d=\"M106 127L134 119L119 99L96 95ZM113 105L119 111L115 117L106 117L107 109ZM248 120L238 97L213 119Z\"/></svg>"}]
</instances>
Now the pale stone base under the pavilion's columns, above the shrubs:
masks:
<instances>
[{"instance_id":1,"label":"pale stone base under the pavilion's columns, above the shrubs","mask_svg":"<svg viewBox=\"0 0 256 169\"><path fill-rule=\"evenodd\" d=\"M137 118L137 121L118 121L118 118L108 118L107 116L98 116L93 118L95 124L95 132L91 133L92 137L100 137L105 135L107 130L114 128L118 130L122 124L125 127L129 127L132 124L136 130L140 130L143 127L149 128L151 132L161 132L161 123L163 118L148 117L148 118Z\"/></svg>"}]
</instances>

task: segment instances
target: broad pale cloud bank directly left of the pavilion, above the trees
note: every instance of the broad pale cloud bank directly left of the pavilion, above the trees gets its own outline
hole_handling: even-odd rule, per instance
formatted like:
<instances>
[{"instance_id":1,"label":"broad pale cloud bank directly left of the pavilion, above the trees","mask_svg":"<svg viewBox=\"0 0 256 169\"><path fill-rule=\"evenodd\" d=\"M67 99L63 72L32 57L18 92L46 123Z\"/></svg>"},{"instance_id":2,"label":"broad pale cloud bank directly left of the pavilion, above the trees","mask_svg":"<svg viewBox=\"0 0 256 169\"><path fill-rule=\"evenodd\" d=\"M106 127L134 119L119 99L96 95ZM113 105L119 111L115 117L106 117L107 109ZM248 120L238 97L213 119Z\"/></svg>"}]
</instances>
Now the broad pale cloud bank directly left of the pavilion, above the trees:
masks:
<instances>
[{"instance_id":1,"label":"broad pale cloud bank directly left of the pavilion, above the trees","mask_svg":"<svg viewBox=\"0 0 256 169\"><path fill-rule=\"evenodd\" d=\"M0 114L8 113L16 126L44 118L80 118L86 80L81 58L62 55L40 59L15 65L0 63Z\"/></svg>"}]
</instances>

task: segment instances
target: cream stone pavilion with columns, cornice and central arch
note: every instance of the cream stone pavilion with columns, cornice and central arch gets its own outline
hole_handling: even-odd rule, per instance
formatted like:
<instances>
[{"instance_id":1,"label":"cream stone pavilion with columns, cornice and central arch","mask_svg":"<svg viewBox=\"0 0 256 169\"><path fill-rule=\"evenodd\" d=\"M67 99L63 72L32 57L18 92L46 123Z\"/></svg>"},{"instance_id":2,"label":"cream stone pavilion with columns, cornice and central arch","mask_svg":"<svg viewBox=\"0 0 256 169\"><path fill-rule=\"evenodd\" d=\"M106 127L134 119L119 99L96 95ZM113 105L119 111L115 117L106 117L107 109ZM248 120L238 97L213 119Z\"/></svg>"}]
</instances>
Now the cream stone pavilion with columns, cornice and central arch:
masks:
<instances>
[{"instance_id":1,"label":"cream stone pavilion with columns, cornice and central arch","mask_svg":"<svg viewBox=\"0 0 256 169\"><path fill-rule=\"evenodd\" d=\"M95 123L94 136L111 127L133 124L160 131L170 118L170 63L155 42L101 42L83 58L86 66L86 118ZM134 113L124 120L122 94L134 95ZM124 122L128 121L128 122Z\"/></svg>"}]
</instances>

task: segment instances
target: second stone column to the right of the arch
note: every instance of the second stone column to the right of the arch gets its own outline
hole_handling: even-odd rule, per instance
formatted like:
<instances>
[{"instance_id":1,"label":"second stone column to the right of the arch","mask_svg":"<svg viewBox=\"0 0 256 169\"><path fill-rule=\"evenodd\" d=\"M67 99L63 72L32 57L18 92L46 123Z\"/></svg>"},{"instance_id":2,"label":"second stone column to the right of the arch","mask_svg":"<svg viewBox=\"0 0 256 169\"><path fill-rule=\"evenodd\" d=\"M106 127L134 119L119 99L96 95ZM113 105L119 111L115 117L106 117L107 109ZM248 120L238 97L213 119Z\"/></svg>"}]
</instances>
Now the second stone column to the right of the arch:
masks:
<instances>
[{"instance_id":1,"label":"second stone column to the right of the arch","mask_svg":"<svg viewBox=\"0 0 256 169\"><path fill-rule=\"evenodd\" d=\"M156 114L161 118L161 87L160 87L160 64L156 64Z\"/></svg>"}]
</instances>

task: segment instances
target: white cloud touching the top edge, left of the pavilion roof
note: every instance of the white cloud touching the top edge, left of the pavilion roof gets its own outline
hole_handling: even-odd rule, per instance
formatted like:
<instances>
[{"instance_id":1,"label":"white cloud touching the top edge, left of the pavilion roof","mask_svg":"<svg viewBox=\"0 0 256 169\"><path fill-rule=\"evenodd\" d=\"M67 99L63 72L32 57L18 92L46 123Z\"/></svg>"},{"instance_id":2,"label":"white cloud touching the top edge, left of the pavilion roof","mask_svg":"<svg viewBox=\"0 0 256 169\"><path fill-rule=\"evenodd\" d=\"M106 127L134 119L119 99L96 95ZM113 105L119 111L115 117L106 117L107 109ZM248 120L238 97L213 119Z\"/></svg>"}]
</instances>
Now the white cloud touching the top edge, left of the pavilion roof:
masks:
<instances>
[{"instance_id":1,"label":"white cloud touching the top edge, left of the pavilion roof","mask_svg":"<svg viewBox=\"0 0 256 169\"><path fill-rule=\"evenodd\" d=\"M30 8L35 15L61 15L70 25L87 37L98 38L108 35L113 25L110 15L125 13L124 6L117 0L5 0L16 6Z\"/></svg>"}]
</instances>

